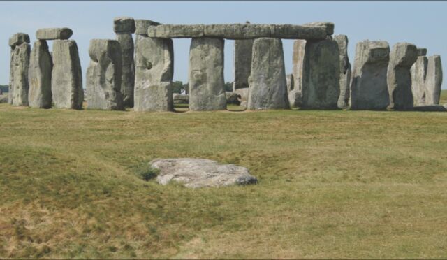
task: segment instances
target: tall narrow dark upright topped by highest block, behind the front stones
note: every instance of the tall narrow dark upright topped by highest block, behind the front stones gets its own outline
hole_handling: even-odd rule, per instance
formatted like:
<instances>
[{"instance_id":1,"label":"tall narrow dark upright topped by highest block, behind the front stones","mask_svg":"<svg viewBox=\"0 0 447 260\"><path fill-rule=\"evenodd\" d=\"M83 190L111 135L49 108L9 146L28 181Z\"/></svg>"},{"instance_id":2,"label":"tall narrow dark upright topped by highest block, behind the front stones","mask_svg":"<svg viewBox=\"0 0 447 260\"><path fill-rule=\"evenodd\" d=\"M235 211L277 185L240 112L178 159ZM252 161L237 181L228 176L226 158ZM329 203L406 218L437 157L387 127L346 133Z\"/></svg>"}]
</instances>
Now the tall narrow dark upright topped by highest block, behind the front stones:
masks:
<instances>
[{"instance_id":1,"label":"tall narrow dark upright topped by highest block, behind the front stones","mask_svg":"<svg viewBox=\"0 0 447 260\"><path fill-rule=\"evenodd\" d=\"M135 65L133 62L133 38L135 20L132 17L116 17L113 29L117 34L117 41L122 52L122 80L121 93L124 106L133 107L133 89L135 84Z\"/></svg>"}]
</instances>

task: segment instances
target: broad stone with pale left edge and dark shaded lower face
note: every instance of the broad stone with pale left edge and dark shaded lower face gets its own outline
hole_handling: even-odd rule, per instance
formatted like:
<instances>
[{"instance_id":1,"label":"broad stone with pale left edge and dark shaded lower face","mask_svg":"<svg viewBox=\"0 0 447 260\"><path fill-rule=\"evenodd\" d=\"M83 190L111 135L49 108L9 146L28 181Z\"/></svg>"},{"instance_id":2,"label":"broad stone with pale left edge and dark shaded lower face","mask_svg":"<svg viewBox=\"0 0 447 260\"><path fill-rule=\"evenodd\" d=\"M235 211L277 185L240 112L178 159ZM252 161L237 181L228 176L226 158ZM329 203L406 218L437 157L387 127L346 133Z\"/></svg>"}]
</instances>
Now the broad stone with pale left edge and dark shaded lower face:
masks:
<instances>
[{"instance_id":1,"label":"broad stone with pale left edge and dark shaded lower face","mask_svg":"<svg viewBox=\"0 0 447 260\"><path fill-rule=\"evenodd\" d=\"M351 82L351 109L386 109L390 103L386 83L389 60L390 46L386 41L357 43Z\"/></svg>"}]
</instances>

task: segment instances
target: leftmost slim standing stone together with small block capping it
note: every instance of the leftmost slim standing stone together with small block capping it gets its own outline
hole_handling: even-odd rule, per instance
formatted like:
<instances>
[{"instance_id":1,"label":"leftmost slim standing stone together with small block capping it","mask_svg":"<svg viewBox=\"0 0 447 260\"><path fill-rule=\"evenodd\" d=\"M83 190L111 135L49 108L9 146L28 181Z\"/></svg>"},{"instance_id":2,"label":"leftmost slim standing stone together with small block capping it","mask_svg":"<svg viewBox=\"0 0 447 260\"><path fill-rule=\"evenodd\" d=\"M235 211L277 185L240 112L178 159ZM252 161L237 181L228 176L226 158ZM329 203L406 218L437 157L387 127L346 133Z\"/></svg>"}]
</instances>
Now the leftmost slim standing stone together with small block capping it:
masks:
<instances>
[{"instance_id":1,"label":"leftmost slim standing stone together with small block capping it","mask_svg":"<svg viewBox=\"0 0 447 260\"><path fill-rule=\"evenodd\" d=\"M13 106L28 106L28 68L31 52L28 34L14 34L9 38L9 45L11 56L8 103Z\"/></svg>"}]
</instances>

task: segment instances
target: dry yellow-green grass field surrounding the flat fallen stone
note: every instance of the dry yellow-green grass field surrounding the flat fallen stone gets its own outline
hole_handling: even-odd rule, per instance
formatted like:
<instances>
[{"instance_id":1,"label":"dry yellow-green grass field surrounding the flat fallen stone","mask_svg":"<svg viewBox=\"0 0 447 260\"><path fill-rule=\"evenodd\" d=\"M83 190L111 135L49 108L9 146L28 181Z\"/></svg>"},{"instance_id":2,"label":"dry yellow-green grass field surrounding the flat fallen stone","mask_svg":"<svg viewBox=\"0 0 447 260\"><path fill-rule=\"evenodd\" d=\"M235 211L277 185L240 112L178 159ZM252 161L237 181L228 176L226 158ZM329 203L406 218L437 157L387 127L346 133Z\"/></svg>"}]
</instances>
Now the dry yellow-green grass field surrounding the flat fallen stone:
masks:
<instances>
[{"instance_id":1,"label":"dry yellow-green grass field surrounding the flat fallen stone","mask_svg":"<svg viewBox=\"0 0 447 260\"><path fill-rule=\"evenodd\" d=\"M447 93L443 93L447 103ZM0 104L0 258L447 258L447 113ZM258 185L135 175L157 157Z\"/></svg>"}]
</instances>

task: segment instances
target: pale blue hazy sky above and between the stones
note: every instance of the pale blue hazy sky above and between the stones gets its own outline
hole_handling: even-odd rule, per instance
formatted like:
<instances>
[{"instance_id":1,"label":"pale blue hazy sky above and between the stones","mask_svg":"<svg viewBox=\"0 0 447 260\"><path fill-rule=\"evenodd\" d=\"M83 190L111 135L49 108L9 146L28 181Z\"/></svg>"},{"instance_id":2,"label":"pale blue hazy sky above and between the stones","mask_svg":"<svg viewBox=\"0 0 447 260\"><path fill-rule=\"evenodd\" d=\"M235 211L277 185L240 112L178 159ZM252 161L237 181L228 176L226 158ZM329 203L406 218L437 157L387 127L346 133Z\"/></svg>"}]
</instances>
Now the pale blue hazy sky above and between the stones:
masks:
<instances>
[{"instance_id":1,"label":"pale blue hazy sky above and between the stones","mask_svg":"<svg viewBox=\"0 0 447 260\"><path fill-rule=\"evenodd\" d=\"M89 64L89 40L115 38L113 18L131 16L169 24L304 24L329 21L349 38L349 59L362 40L406 41L447 57L446 1L0 1L0 85L8 84L8 38L36 29L69 27L78 43L82 76ZM189 39L175 39L174 80L188 80ZM225 80L233 81L233 41L225 43ZM284 40L286 73L292 70L292 40ZM52 47L50 43L50 48ZM443 60L446 70L447 60ZM447 73L445 73L447 75ZM447 79L443 88L447 87ZM84 85L85 87L85 85Z\"/></svg>"}]
</instances>

